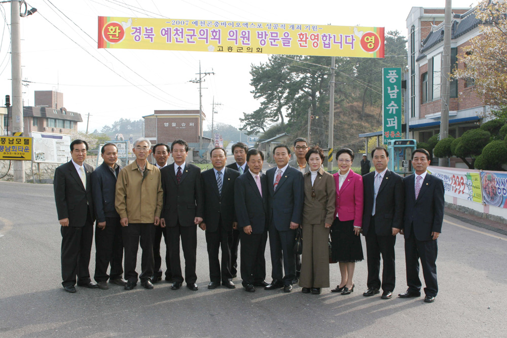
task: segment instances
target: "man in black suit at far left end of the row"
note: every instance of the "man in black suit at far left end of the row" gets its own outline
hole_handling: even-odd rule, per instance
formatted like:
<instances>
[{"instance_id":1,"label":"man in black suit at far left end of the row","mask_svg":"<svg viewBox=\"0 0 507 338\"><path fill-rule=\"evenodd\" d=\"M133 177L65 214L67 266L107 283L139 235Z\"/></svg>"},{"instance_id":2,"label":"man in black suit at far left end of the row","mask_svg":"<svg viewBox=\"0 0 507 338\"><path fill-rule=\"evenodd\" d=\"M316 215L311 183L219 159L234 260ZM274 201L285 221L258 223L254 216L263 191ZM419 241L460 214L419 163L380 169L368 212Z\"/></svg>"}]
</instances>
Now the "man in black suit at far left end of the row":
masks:
<instances>
[{"instance_id":1,"label":"man in black suit at far left end of the row","mask_svg":"<svg viewBox=\"0 0 507 338\"><path fill-rule=\"evenodd\" d=\"M91 282L88 270L95 216L90 178L93 167L84 163L87 150L86 141L71 142L71 160L56 168L53 180L62 235L62 285L67 292L76 292L76 275L78 286L98 287Z\"/></svg>"}]
</instances>

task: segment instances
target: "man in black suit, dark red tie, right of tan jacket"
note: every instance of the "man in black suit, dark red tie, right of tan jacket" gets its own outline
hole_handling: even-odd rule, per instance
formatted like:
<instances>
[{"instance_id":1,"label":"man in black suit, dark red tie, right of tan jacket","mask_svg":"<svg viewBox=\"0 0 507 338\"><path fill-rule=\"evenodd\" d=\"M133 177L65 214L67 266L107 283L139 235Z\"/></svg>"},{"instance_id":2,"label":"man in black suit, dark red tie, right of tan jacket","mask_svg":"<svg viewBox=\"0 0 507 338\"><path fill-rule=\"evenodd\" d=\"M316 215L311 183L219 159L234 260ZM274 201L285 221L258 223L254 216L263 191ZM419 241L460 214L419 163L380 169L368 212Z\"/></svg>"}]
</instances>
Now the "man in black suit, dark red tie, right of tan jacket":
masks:
<instances>
[{"instance_id":1,"label":"man in black suit, dark red tie, right of tan jacket","mask_svg":"<svg viewBox=\"0 0 507 338\"><path fill-rule=\"evenodd\" d=\"M182 238L185 256L185 281L190 290L197 290L195 273L197 254L197 225L202 222L201 169L186 163L189 146L184 140L171 144L174 163L162 168L164 206L162 227L169 237L169 260L171 264L171 289L183 284L182 266L179 260L179 238Z\"/></svg>"}]
</instances>

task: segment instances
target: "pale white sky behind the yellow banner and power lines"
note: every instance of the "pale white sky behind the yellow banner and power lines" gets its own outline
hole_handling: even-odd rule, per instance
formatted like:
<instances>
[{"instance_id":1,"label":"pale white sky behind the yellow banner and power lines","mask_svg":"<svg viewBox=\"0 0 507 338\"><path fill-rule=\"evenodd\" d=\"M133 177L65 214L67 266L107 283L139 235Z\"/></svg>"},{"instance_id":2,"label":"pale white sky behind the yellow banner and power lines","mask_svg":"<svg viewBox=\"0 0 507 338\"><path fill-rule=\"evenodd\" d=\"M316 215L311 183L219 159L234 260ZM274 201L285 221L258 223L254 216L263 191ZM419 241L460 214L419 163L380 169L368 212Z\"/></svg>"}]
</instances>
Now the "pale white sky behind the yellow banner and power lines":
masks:
<instances>
[{"instance_id":1,"label":"pale white sky behind the yellow banner and power lines","mask_svg":"<svg viewBox=\"0 0 507 338\"><path fill-rule=\"evenodd\" d=\"M373 26L399 30L412 7L445 7L445 0L281 1L256 0L29 0L38 12L21 19L21 63L25 105L33 105L35 90L58 90L70 111L79 112L86 130L101 130L120 118L138 120L163 109L199 109L199 85L190 82L201 72L213 72L202 83L202 107L214 121L240 127L243 112L260 106L249 85L251 64L268 55L211 52L98 49L98 16L231 20L336 26ZM469 8L477 0L454 0L453 8ZM11 94L10 12L0 30L0 98ZM125 80L125 79L128 79ZM130 83L129 83L130 82Z\"/></svg>"}]
</instances>

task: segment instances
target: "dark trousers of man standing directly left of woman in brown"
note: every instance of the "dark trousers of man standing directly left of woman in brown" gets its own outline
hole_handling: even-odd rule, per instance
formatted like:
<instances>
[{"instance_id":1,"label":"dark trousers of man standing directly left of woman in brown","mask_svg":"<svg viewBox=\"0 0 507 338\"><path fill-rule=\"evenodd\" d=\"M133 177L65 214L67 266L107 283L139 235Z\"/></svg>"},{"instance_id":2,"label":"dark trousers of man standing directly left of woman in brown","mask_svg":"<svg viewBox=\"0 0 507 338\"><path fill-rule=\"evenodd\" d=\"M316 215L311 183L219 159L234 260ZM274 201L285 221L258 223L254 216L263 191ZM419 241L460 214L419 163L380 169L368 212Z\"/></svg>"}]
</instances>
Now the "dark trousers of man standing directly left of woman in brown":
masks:
<instances>
[{"instance_id":1,"label":"dark trousers of man standing directly left of woman in brown","mask_svg":"<svg viewBox=\"0 0 507 338\"><path fill-rule=\"evenodd\" d=\"M273 223L269 226L269 251L271 252L271 265L273 279L283 281L283 285L292 285L296 278L296 254L294 243L296 229L278 231ZM283 270L282 270L283 266ZM283 275L285 272L285 275Z\"/></svg>"}]
</instances>

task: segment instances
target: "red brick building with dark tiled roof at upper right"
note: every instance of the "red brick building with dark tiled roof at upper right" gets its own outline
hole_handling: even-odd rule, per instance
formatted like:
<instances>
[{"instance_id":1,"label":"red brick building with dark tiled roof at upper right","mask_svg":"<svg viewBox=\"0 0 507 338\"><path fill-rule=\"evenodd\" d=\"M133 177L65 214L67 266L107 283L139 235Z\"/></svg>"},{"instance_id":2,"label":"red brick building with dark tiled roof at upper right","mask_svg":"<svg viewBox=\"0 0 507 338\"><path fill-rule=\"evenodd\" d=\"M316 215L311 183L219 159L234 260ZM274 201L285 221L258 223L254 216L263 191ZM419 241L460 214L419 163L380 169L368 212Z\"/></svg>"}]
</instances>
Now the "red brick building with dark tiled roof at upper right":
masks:
<instances>
[{"instance_id":1,"label":"red brick building with dark tiled roof at upper right","mask_svg":"<svg viewBox=\"0 0 507 338\"><path fill-rule=\"evenodd\" d=\"M469 40L481 33L480 21L475 17L476 10L476 8L452 10L451 69L465 66L462 62L457 62L457 55L463 54ZM411 138L419 142L426 142L440 132L444 14L443 8L413 7L406 20L408 116ZM466 130L479 127L489 111L483 97L473 89L473 80L451 81L449 135L455 138Z\"/></svg>"}]
</instances>

